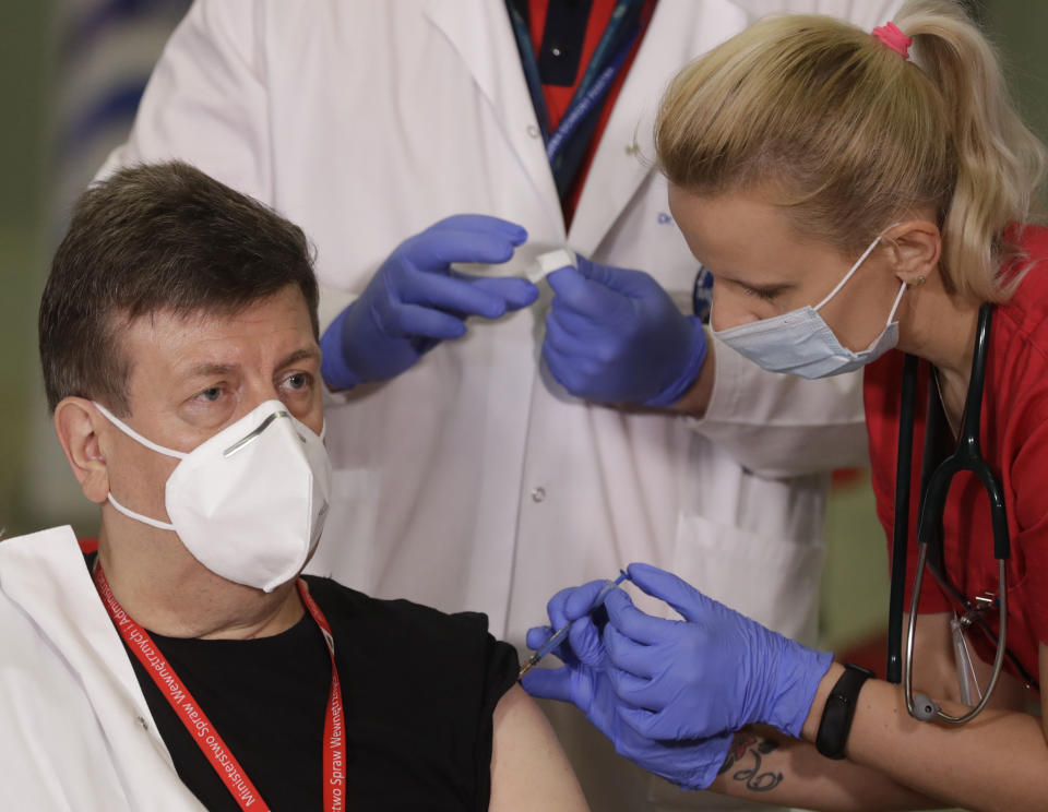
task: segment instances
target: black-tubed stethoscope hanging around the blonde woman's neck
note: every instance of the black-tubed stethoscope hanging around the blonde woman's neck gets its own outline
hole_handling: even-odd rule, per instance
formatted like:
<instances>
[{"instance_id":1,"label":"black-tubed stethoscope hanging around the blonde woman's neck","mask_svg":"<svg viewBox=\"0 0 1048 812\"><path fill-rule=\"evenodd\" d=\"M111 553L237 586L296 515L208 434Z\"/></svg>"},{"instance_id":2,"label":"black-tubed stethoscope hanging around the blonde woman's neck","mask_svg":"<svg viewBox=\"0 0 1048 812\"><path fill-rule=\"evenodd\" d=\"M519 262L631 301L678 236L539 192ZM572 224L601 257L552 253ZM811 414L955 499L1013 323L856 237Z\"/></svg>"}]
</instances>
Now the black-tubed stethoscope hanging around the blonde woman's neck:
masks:
<instances>
[{"instance_id":1,"label":"black-tubed stethoscope hanging around the blonde woman's neck","mask_svg":"<svg viewBox=\"0 0 1048 812\"><path fill-rule=\"evenodd\" d=\"M925 432L920 471L919 522L917 524L918 559L914 575L914 590L909 604L909 623L906 630L906 659L901 657L903 595L906 583L906 548L909 537L909 490L914 445L914 402L917 389L917 358L906 356L903 367L902 399L900 406L898 461L895 479L895 524L892 528L892 586L889 602L888 632L888 681L900 682L906 697L906 710L915 719L939 718L944 721L963 725L974 719L986 707L997 686L998 678L1008 658L1020 672L1027 685L1037 688L1034 680L1017 659L1008 650L1008 559L1011 556L1011 541L1008 532L1008 514L1004 509L1004 492L997 476L982 458L979 449L979 429L982 413L982 390L986 383L986 361L989 355L990 324L993 306L979 307L979 318L975 332L975 351L972 356L972 377L965 395L964 414L961 430L953 453L942 458L941 445L946 425L942 398L934 387L928 387L928 415ZM937 462L940 461L940 462ZM942 540L942 516L950 483L961 471L970 471L981 482L990 504L990 524L993 529L993 558L997 559L998 594L993 598L969 600L950 583L945 576ZM962 626L977 625L990 640L997 637L997 653L993 657L993 671L986 691L978 704L962 716L945 713L927 694L914 694L913 661L914 637L917 623L917 606L920 600L920 587L928 569L942 588L961 606L964 614L960 619ZM998 634L993 635L986 622L988 609L996 608L1000 622ZM900 674L902 671L902 674Z\"/></svg>"}]
</instances>

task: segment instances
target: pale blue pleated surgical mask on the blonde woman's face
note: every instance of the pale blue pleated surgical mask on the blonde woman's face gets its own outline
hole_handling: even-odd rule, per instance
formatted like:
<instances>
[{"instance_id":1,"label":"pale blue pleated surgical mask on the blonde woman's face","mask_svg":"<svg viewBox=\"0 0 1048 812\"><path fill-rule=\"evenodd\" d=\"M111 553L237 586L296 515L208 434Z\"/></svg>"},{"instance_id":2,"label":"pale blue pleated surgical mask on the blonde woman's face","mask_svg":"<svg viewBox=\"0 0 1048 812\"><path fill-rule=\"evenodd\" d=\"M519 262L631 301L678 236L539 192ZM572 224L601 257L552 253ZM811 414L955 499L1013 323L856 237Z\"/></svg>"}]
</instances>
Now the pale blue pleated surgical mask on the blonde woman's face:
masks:
<instances>
[{"instance_id":1,"label":"pale blue pleated surgical mask on the blonde woman's face","mask_svg":"<svg viewBox=\"0 0 1048 812\"><path fill-rule=\"evenodd\" d=\"M838 375L877 360L898 343L898 322L893 322L892 319L895 318L898 302L906 289L905 283L898 288L898 296L892 304L892 312L888 314L884 330L870 346L858 353L837 341L819 310L836 296L880 240L878 236L830 295L814 307L808 304L771 319L740 324L728 330L714 330L713 334L731 349L770 372L786 372L801 378Z\"/></svg>"}]
</instances>

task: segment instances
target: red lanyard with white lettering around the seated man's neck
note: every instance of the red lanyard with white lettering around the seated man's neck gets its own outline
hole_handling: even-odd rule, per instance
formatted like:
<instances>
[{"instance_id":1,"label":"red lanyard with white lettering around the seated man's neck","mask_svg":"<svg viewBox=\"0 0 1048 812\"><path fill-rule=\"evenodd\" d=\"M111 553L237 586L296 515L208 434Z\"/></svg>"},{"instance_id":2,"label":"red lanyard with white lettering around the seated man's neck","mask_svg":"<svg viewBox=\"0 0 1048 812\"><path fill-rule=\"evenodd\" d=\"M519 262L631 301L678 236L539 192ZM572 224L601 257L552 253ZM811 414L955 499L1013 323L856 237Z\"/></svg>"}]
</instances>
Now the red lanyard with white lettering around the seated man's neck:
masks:
<instances>
[{"instance_id":1,"label":"red lanyard with white lettering around the seated man's neck","mask_svg":"<svg viewBox=\"0 0 1048 812\"><path fill-rule=\"evenodd\" d=\"M109 582L102 571L102 564L95 568L95 586L106 606L106 611L112 619L114 625L134 652L160 693L168 701L186 729L193 735L196 744L204 756L211 762L218 777L226 785L226 789L237 800L242 810L260 810L269 812L269 805L262 800L259 790L254 788L248 774L243 772L240 762L226 747L218 736L218 731L204 715L189 690L178 680L178 674L168 665L167 659L153 643L150 633L135 623L117 602ZM327 652L331 655L331 695L327 697L327 715L324 720L324 749L327 757L324 761L324 809L327 812L342 812L345 809L345 727L342 707L342 686L338 682L338 670L335 668L335 640L331 634L327 619L309 594L309 587L301 578L298 580L298 594L306 605L306 609L317 621Z\"/></svg>"}]
</instances>

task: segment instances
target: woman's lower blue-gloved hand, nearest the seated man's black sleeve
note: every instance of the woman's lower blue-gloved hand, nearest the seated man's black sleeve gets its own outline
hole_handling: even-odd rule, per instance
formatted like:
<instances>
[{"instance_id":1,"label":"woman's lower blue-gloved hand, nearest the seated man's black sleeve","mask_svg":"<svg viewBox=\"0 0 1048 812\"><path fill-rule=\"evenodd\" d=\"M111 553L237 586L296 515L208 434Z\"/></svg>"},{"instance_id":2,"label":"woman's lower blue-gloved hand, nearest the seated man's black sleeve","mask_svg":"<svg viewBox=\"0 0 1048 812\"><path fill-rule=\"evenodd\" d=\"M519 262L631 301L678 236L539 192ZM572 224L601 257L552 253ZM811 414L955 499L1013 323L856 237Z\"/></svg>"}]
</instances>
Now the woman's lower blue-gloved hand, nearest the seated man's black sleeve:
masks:
<instances>
[{"instance_id":1,"label":"woman's lower blue-gloved hand, nearest the seated man's black sleeve","mask_svg":"<svg viewBox=\"0 0 1048 812\"><path fill-rule=\"evenodd\" d=\"M561 668L536 668L524 674L522 684L532 696L570 702L604 733L620 755L684 789L705 789L717 777L731 744L733 733L706 740L656 741L623 724L620 714L635 710L615 694L607 654L590 607L605 581L562 589L549 601L552 628L536 626L527 633L527 645L539 648L553 629L574 620L568 640L553 653L565 664ZM619 592L615 589L612 592Z\"/></svg>"}]
</instances>

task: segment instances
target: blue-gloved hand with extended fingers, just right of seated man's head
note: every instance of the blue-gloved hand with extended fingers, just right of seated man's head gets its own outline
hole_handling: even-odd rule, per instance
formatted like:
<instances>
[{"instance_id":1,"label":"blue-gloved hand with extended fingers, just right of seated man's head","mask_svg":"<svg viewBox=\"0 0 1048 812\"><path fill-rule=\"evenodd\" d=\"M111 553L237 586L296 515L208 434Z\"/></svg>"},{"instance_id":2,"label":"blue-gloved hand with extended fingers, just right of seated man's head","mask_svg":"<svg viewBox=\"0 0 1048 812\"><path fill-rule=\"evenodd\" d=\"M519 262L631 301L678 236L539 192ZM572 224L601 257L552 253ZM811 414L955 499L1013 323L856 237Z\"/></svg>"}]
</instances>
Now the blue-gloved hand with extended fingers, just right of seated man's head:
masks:
<instances>
[{"instance_id":1,"label":"blue-gloved hand with extended fingers, just right of seated man's head","mask_svg":"<svg viewBox=\"0 0 1048 812\"><path fill-rule=\"evenodd\" d=\"M324 380L335 389L385 381L440 341L465 333L467 315L497 319L531 304L538 289L527 279L467 276L449 267L505 262L526 239L513 223L463 214L404 240L324 331Z\"/></svg>"}]
</instances>

